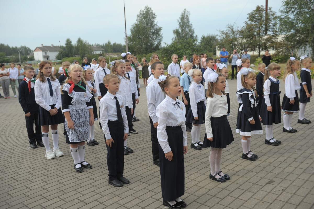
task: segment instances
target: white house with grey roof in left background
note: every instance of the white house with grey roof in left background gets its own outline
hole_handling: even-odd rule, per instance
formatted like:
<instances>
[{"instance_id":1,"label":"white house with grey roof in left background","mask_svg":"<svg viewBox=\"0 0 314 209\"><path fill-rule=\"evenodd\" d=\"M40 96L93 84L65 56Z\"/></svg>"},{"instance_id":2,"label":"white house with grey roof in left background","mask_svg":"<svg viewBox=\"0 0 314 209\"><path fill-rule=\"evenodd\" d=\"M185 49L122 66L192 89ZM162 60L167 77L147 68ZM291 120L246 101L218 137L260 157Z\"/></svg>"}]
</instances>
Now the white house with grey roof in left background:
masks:
<instances>
[{"instance_id":1,"label":"white house with grey roof in left background","mask_svg":"<svg viewBox=\"0 0 314 209\"><path fill-rule=\"evenodd\" d=\"M52 44L51 46L44 46L41 44L34 50L35 61L55 60L60 50L59 46L53 46Z\"/></svg>"}]
</instances>

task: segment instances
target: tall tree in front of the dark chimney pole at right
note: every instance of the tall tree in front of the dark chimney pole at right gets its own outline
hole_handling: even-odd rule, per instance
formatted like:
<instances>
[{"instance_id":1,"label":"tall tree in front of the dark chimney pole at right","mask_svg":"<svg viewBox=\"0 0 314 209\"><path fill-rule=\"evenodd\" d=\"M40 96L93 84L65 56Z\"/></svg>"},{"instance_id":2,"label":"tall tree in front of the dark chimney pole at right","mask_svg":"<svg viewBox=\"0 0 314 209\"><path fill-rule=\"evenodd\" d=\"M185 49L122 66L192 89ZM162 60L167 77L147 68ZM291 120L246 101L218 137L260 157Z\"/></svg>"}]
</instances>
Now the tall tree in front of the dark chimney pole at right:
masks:
<instances>
[{"instance_id":1,"label":"tall tree in front of the dark chimney pole at right","mask_svg":"<svg viewBox=\"0 0 314 209\"><path fill-rule=\"evenodd\" d=\"M243 37L248 44L248 48L252 51L257 51L258 56L261 55L261 51L268 49L270 44L277 41L277 22L275 21L276 12L272 11L272 8L268 8L268 13L265 14L265 8L263 5L257 6L255 10L248 13L247 21L245 21L245 27L242 30ZM267 22L265 21L267 17ZM265 31L267 29L267 35Z\"/></svg>"}]
</instances>

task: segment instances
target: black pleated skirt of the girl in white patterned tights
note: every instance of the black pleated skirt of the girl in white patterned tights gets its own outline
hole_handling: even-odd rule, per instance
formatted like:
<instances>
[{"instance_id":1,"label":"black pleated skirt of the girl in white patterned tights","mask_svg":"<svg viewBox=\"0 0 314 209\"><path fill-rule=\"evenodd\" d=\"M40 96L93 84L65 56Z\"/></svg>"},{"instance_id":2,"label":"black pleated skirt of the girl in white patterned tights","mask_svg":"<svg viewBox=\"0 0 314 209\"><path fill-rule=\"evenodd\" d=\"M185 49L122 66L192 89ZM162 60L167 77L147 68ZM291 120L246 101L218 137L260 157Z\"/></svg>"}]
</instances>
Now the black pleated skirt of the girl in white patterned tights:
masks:
<instances>
[{"instance_id":1,"label":"black pleated skirt of the girl in white patterned tights","mask_svg":"<svg viewBox=\"0 0 314 209\"><path fill-rule=\"evenodd\" d=\"M210 117L210 122L213 131L213 141L209 141L207 139L207 134L205 133L203 146L226 148L227 145L234 141L227 115L223 115L218 118Z\"/></svg>"}]
</instances>

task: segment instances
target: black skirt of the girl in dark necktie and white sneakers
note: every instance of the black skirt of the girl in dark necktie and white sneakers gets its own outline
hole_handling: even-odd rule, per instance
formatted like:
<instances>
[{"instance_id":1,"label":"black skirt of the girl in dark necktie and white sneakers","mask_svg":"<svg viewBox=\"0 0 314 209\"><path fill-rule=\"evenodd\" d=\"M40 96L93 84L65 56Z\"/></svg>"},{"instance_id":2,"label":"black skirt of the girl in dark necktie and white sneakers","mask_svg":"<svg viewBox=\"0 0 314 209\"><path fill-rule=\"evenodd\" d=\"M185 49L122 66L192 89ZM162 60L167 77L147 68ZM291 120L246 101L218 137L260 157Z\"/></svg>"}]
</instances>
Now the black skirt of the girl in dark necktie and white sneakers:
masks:
<instances>
[{"instance_id":1,"label":"black skirt of the girl in dark necktie and white sneakers","mask_svg":"<svg viewBox=\"0 0 314 209\"><path fill-rule=\"evenodd\" d=\"M50 105L51 109L55 108L55 105ZM57 125L64 122L61 108L58 109L56 115L50 115L49 111L39 106L38 111L38 126Z\"/></svg>"}]
</instances>

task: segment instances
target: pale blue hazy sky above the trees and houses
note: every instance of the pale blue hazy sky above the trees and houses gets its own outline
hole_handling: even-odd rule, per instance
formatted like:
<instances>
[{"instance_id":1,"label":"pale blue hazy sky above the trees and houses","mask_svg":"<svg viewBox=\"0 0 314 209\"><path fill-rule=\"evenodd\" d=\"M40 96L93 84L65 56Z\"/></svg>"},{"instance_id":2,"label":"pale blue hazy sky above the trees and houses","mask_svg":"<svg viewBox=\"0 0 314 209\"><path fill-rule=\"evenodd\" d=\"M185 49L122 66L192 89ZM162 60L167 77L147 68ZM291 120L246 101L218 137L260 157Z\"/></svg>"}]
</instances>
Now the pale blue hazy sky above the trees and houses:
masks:
<instances>
[{"instance_id":1,"label":"pale blue hazy sky above the trees and houses","mask_svg":"<svg viewBox=\"0 0 314 209\"><path fill-rule=\"evenodd\" d=\"M190 22L195 33L216 34L224 30L227 24L244 25L247 14L265 1L257 0L204 0L192 5L190 0L148 1L125 0L127 34L136 22L136 15L146 5L157 15L156 21L162 27L162 45L171 43L172 30L177 28L177 19L186 8L190 12ZM269 0L268 7L279 12L281 0ZM123 0L10 0L2 1L1 22L5 23L5 32L0 34L0 43L9 46L28 46L35 50L41 44L45 46L64 45L70 38L74 44L78 37L90 44L124 44L124 8ZM60 40L60 42L59 42Z\"/></svg>"}]
</instances>

